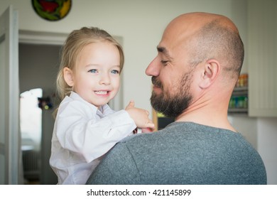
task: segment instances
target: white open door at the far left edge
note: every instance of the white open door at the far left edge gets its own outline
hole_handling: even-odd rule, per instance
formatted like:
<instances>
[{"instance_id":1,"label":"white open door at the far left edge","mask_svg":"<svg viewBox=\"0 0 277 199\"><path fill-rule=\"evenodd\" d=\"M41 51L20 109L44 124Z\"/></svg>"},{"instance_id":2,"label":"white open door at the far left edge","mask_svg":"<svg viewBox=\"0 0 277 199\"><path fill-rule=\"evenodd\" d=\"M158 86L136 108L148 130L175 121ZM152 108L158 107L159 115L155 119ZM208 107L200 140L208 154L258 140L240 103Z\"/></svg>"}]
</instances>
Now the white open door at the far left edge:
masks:
<instances>
[{"instance_id":1,"label":"white open door at the far left edge","mask_svg":"<svg viewBox=\"0 0 277 199\"><path fill-rule=\"evenodd\" d=\"M9 6L1 14L1 184L18 184L19 178L19 77L18 11ZM3 166L3 167L2 167Z\"/></svg>"}]
</instances>

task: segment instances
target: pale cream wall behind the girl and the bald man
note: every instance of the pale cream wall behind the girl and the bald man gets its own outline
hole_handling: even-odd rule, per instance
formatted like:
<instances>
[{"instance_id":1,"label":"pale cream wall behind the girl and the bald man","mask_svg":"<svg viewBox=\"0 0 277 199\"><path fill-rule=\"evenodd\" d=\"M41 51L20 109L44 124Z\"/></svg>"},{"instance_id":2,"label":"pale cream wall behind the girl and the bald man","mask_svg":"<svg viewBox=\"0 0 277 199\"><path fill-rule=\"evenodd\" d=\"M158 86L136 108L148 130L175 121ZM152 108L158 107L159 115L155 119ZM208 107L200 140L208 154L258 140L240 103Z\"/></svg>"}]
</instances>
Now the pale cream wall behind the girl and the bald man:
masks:
<instances>
[{"instance_id":1,"label":"pale cream wall behind the girl and the bald man","mask_svg":"<svg viewBox=\"0 0 277 199\"><path fill-rule=\"evenodd\" d=\"M0 13L9 4L19 11L19 28L28 31L48 31L70 33L82 26L99 26L114 36L121 36L124 41L126 63L124 66L124 104L134 99L138 107L151 112L149 97L151 95L151 78L144 71L156 56L156 45L161 39L163 29L175 16L191 11L206 11L223 14L237 24L241 38L246 43L247 3L249 0L79 0L73 1L70 14L57 22L45 21L33 11L30 0L1 0ZM266 1L265 1L266 2ZM249 58L245 58L242 72L247 72ZM253 122L253 121L252 121ZM247 123L248 124L248 123ZM247 127L247 124L246 127ZM270 129L266 129L269 124ZM261 151L269 176L268 183L277 184L276 158L267 161L267 157L276 157L276 119L258 119L255 123L256 141ZM243 124L242 124L243 125ZM254 126L255 126L254 125ZM249 130L244 126L241 129ZM266 131L266 133L265 133ZM258 139L257 139L258 138ZM273 150L267 143L273 141Z\"/></svg>"}]
</instances>

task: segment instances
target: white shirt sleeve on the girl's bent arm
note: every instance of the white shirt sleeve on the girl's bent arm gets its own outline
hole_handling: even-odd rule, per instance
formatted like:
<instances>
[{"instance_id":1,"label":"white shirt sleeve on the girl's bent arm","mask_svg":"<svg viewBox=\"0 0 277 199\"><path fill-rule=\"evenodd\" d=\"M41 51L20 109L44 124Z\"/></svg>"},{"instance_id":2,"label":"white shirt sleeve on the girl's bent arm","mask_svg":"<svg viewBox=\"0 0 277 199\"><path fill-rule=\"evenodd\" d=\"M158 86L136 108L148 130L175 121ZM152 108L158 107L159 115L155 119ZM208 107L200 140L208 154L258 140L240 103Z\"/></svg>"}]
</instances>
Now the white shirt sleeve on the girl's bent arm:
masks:
<instances>
[{"instance_id":1,"label":"white shirt sleeve on the girl's bent arm","mask_svg":"<svg viewBox=\"0 0 277 199\"><path fill-rule=\"evenodd\" d=\"M136 128L125 110L97 120L92 117L95 115L92 109L74 101L60 107L60 111L56 119L60 145L83 156L87 162L106 154Z\"/></svg>"}]
</instances>

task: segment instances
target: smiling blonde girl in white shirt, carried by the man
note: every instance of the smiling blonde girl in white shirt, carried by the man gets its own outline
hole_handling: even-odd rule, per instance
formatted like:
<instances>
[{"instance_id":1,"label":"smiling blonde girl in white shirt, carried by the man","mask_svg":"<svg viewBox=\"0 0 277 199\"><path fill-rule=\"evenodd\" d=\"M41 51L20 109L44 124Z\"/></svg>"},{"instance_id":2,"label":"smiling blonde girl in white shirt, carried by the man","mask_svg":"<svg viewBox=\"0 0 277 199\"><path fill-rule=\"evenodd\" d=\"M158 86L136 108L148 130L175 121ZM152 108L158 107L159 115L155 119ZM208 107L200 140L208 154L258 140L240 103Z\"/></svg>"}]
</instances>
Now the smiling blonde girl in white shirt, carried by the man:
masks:
<instances>
[{"instance_id":1,"label":"smiling blonde girl in white shirt, carried by the man","mask_svg":"<svg viewBox=\"0 0 277 199\"><path fill-rule=\"evenodd\" d=\"M130 102L114 112L107 104L119 91L121 45L99 28L70 33L57 78L58 107L50 166L58 184L85 184L102 156L137 127L153 128L148 112Z\"/></svg>"}]
</instances>

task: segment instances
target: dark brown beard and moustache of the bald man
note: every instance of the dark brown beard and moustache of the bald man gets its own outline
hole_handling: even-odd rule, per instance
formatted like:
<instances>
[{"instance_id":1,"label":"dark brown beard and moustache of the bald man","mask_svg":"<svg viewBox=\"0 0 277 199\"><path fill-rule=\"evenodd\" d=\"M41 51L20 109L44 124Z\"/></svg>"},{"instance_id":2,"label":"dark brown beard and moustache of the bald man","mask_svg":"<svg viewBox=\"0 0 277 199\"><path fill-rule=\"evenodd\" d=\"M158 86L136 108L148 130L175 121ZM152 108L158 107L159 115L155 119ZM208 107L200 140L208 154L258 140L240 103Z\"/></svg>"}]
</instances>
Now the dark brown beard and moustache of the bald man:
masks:
<instances>
[{"instance_id":1,"label":"dark brown beard and moustache of the bald man","mask_svg":"<svg viewBox=\"0 0 277 199\"><path fill-rule=\"evenodd\" d=\"M187 72L183 75L182 79L178 84L178 92L175 95L165 96L163 91L163 85L157 77L152 77L153 85L161 88L163 91L157 95L154 91L151 96L151 105L157 112L161 112L166 117L176 118L188 109L192 100L190 94L190 84L192 81L192 72Z\"/></svg>"}]
</instances>

